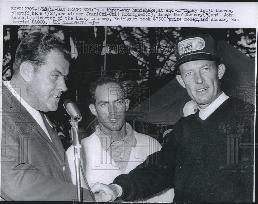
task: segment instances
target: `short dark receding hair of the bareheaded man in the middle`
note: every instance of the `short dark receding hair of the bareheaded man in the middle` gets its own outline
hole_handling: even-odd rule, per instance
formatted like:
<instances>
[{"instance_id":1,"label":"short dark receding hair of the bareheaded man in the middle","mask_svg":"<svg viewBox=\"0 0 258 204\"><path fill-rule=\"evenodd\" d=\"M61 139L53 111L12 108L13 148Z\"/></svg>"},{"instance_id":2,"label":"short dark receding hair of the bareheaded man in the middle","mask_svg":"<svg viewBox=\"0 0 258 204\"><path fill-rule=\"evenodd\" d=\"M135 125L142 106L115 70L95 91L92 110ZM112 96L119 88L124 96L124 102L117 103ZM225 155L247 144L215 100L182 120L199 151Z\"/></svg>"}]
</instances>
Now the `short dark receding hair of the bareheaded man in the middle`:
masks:
<instances>
[{"instance_id":1,"label":"short dark receding hair of the bareheaded man in the middle","mask_svg":"<svg viewBox=\"0 0 258 204\"><path fill-rule=\"evenodd\" d=\"M91 104L96 105L96 88L98 86L104 85L104 84L118 84L118 86L124 90L124 87L122 86L122 84L120 82L118 82L117 80L115 80L113 77L105 75L105 76L101 76L98 79L94 80L91 85L90 85L90 100L91 100Z\"/></svg>"}]
</instances>

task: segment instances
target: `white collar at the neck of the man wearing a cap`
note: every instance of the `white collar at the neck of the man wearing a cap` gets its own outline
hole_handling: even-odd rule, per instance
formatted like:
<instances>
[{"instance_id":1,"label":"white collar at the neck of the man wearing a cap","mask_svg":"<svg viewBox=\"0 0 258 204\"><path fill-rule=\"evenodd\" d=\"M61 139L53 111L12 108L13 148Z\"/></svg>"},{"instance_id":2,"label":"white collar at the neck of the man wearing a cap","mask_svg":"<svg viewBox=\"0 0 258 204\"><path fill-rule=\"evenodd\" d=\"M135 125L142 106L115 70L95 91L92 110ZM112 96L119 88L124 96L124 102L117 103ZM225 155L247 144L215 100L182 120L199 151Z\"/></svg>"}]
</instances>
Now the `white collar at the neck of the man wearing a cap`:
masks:
<instances>
[{"instance_id":1,"label":"white collar at the neck of the man wearing a cap","mask_svg":"<svg viewBox=\"0 0 258 204\"><path fill-rule=\"evenodd\" d=\"M202 120L206 120L207 117L209 117L225 100L227 100L229 98L229 96L225 95L224 92L222 92L222 94L216 98L216 100L214 100L210 105L208 105L206 108L201 109L199 107L199 117Z\"/></svg>"}]
</instances>

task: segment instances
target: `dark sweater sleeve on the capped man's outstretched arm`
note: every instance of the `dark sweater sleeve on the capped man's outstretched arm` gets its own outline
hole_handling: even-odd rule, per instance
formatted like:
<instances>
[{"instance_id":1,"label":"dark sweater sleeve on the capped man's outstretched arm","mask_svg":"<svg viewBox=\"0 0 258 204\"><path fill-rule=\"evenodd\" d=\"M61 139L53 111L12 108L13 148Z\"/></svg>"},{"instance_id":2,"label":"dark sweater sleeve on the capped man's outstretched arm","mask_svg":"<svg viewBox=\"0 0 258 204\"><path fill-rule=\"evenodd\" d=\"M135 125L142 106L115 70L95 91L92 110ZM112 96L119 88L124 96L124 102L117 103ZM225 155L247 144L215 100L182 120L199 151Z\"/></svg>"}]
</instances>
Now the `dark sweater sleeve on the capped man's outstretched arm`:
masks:
<instances>
[{"instance_id":1,"label":"dark sweater sleeve on the capped man's outstretched arm","mask_svg":"<svg viewBox=\"0 0 258 204\"><path fill-rule=\"evenodd\" d=\"M176 144L174 132L168 135L168 141L159 152L155 152L129 174L122 174L115 178L112 184L120 185L122 196L118 199L132 201L144 199L174 185L174 171L176 158Z\"/></svg>"}]
</instances>

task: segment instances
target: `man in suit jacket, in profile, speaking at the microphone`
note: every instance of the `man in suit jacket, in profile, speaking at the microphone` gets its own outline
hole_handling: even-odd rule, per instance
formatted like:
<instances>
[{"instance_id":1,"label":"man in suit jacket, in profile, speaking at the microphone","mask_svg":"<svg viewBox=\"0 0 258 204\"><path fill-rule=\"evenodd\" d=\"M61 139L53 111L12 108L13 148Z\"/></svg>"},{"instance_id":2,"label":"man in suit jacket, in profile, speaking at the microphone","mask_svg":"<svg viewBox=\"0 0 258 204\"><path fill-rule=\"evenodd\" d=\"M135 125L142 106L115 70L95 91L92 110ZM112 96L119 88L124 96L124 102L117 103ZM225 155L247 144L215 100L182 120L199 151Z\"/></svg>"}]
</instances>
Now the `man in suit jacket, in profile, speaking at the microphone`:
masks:
<instances>
[{"instance_id":1,"label":"man in suit jacket, in profile, speaking at the microphone","mask_svg":"<svg viewBox=\"0 0 258 204\"><path fill-rule=\"evenodd\" d=\"M77 199L61 140L41 112L57 110L70 56L51 34L29 34L17 48L13 77L1 88L1 200ZM83 198L93 201L87 189Z\"/></svg>"}]
</instances>

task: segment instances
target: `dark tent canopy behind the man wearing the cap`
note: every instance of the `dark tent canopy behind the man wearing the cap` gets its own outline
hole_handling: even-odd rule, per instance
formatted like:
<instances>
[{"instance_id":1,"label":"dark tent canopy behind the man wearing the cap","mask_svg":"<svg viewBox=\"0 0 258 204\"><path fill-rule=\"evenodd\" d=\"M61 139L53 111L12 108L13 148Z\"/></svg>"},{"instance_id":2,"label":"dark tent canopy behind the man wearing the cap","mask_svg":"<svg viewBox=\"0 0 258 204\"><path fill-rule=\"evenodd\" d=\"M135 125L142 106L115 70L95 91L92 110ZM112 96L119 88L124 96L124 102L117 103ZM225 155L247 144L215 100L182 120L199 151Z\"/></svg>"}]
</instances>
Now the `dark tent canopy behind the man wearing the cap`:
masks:
<instances>
[{"instance_id":1,"label":"dark tent canopy behind the man wearing the cap","mask_svg":"<svg viewBox=\"0 0 258 204\"><path fill-rule=\"evenodd\" d=\"M255 61L224 40L219 41L217 45L221 62L226 67L225 74L221 79L222 91L228 96L235 96L254 104L254 95L248 98L243 94L236 93L239 87L241 89L252 87L252 90L255 90ZM190 100L186 89L181 87L174 78L149 99L143 101L139 113L131 115L128 112L127 120L174 125L184 116L183 107Z\"/></svg>"}]
</instances>

